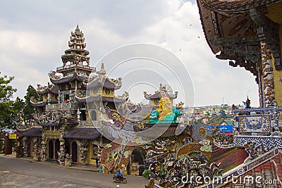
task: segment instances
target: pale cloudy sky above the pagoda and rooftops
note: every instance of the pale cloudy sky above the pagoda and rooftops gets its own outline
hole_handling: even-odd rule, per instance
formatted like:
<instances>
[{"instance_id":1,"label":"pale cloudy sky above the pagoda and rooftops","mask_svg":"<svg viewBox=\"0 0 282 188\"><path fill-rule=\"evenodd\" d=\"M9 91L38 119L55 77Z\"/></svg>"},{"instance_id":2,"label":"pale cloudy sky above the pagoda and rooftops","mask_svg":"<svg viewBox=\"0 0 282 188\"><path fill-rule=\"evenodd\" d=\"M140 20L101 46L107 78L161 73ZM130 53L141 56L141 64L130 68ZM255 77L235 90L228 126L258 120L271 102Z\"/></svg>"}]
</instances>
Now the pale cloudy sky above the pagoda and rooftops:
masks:
<instances>
[{"instance_id":1,"label":"pale cloudy sky above the pagoda and rooftops","mask_svg":"<svg viewBox=\"0 0 282 188\"><path fill-rule=\"evenodd\" d=\"M173 90L179 92L178 101L186 101L188 106L216 105L223 101L242 105L247 96L252 106L259 106L255 77L244 68L230 67L228 61L219 61L212 54L195 0L13 0L2 3L0 10L1 76L15 76L12 83L18 89L15 96L23 97L28 84L36 87L49 82L47 74L62 65L61 55L68 49L71 32L79 25L85 34L91 65L99 70L103 60L110 77L123 77L120 90L129 91L133 102L143 101L143 91L152 93L161 82L173 85ZM178 78L166 75L166 70L151 61L130 61L122 66L118 64L121 60L114 62L113 58L107 58L109 52L136 43L156 45L175 55L182 64L161 55L159 61ZM130 53L134 55L133 51ZM119 69L114 69L115 72L113 68L117 65ZM189 94L187 91L183 94L185 89L178 84ZM191 100L183 99L183 95Z\"/></svg>"}]
</instances>

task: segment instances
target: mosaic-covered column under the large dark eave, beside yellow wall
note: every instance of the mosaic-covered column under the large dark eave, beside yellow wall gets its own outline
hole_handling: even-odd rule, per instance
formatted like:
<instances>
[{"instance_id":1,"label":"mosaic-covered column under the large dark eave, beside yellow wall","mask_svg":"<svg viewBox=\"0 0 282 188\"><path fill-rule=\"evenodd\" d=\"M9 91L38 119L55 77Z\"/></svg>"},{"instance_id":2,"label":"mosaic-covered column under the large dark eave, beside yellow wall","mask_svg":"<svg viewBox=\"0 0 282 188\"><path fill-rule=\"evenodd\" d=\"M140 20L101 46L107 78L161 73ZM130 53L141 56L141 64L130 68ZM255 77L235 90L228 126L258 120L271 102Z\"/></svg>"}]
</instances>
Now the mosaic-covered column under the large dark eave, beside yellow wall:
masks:
<instances>
[{"instance_id":1,"label":"mosaic-covered column under the large dark eave, beside yellow wall","mask_svg":"<svg viewBox=\"0 0 282 188\"><path fill-rule=\"evenodd\" d=\"M265 107L275 106L274 74L272 68L272 53L269 46L261 41L262 50L262 79L264 82L264 104Z\"/></svg>"}]
</instances>

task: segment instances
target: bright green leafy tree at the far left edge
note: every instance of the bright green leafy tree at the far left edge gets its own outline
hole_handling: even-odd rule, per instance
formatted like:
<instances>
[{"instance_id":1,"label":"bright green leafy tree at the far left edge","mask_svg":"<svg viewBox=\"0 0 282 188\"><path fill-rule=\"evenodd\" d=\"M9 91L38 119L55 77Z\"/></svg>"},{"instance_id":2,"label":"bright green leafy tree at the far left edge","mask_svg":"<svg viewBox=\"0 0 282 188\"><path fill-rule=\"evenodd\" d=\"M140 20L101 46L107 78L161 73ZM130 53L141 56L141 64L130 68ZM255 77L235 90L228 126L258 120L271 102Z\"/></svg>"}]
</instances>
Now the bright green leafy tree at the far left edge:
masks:
<instances>
[{"instance_id":1,"label":"bright green leafy tree at the far left edge","mask_svg":"<svg viewBox=\"0 0 282 188\"><path fill-rule=\"evenodd\" d=\"M1 73L0 73L1 74ZM0 77L0 128L2 127L12 127L12 116L13 111L13 93L17 89L13 88L10 83L14 77Z\"/></svg>"}]
</instances>

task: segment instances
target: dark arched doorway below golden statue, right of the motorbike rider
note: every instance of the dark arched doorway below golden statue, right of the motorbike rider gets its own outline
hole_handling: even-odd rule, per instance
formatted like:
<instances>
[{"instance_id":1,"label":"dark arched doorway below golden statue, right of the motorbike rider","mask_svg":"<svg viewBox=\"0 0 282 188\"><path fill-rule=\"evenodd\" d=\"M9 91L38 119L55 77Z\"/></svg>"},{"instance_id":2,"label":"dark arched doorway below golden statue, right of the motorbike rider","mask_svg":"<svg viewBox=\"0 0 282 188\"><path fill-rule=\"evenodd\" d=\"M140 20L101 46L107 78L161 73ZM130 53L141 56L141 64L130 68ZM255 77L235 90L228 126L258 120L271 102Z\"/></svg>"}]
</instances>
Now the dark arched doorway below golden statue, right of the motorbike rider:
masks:
<instances>
[{"instance_id":1,"label":"dark arched doorway below golden statue, right of the motorbike rider","mask_svg":"<svg viewBox=\"0 0 282 188\"><path fill-rule=\"evenodd\" d=\"M145 156L146 156L146 151L142 149L140 146L137 146L135 149L133 149L130 164L128 164L130 165L130 168L128 169L129 170L128 174L142 176L145 170L144 168Z\"/></svg>"}]
</instances>

